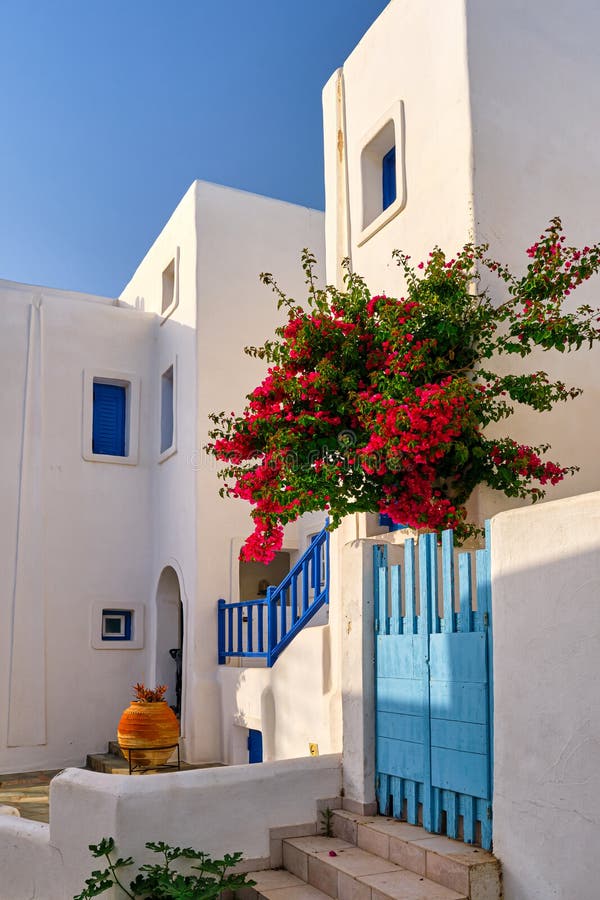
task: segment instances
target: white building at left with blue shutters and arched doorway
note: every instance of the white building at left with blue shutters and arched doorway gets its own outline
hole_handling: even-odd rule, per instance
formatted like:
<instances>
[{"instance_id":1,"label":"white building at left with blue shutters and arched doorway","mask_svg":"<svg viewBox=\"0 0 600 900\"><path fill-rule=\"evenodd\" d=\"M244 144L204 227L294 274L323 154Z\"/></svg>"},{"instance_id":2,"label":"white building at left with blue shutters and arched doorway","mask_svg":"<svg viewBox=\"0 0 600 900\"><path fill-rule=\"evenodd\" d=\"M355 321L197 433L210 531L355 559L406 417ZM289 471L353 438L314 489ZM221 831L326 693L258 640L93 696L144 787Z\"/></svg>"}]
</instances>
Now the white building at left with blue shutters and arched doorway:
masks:
<instances>
[{"instance_id":1,"label":"white building at left with blue shutters and arched doorway","mask_svg":"<svg viewBox=\"0 0 600 900\"><path fill-rule=\"evenodd\" d=\"M259 272L301 296L305 246L323 257L322 213L195 182L118 299L0 283L0 771L82 765L136 681L174 702L178 647L184 758L228 761L216 603L239 598L251 520L202 448L263 371L243 354L277 324Z\"/></svg>"}]
</instances>

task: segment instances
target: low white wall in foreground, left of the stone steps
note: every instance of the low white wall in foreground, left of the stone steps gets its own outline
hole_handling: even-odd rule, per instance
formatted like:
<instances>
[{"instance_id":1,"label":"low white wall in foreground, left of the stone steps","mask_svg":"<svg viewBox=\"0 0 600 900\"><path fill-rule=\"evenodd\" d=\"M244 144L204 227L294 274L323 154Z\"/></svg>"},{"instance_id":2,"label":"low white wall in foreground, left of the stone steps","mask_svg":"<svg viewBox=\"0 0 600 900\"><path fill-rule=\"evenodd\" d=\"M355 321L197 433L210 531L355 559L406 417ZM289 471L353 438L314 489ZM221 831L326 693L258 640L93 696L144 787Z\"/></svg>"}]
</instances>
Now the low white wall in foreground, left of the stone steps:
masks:
<instances>
[{"instance_id":1,"label":"low white wall in foreground, left of the stone steps","mask_svg":"<svg viewBox=\"0 0 600 900\"><path fill-rule=\"evenodd\" d=\"M67 769L51 784L49 826L0 816L0 900L71 900L98 868L88 845L106 836L137 863L164 840L265 868L271 829L316 822L340 790L337 754L159 777Z\"/></svg>"}]
</instances>

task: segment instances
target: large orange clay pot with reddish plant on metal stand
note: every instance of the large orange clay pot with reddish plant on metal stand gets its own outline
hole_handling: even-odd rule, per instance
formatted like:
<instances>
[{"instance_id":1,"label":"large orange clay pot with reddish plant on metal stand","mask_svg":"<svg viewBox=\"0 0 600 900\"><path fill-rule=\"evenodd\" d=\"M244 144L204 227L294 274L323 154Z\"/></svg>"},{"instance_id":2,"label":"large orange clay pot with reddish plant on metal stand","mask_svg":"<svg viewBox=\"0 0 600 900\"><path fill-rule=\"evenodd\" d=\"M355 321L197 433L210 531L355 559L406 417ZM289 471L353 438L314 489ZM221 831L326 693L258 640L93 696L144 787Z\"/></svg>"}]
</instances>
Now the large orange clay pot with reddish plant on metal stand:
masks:
<instances>
[{"instance_id":1,"label":"large orange clay pot with reddish plant on metal stand","mask_svg":"<svg viewBox=\"0 0 600 900\"><path fill-rule=\"evenodd\" d=\"M154 768L164 765L179 739L179 722L165 700L166 684L150 689L138 682L133 686L135 699L123 712L117 729L117 741L125 759L135 766Z\"/></svg>"}]
</instances>

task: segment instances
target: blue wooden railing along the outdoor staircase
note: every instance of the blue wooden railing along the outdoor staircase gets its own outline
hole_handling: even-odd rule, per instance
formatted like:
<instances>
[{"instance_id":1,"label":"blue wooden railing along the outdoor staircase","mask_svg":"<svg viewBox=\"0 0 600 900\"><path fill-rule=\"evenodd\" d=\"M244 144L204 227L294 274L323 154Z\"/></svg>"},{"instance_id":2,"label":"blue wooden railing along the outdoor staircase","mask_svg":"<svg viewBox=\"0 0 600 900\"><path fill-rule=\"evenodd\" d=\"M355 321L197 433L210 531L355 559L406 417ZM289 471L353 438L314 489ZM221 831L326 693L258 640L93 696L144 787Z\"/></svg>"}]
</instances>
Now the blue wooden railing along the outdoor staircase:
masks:
<instances>
[{"instance_id":1,"label":"blue wooden railing along the outdoor staircase","mask_svg":"<svg viewBox=\"0 0 600 900\"><path fill-rule=\"evenodd\" d=\"M218 601L219 664L230 657L263 658L272 666L280 653L329 603L329 531L313 539L277 587L266 598Z\"/></svg>"}]
</instances>

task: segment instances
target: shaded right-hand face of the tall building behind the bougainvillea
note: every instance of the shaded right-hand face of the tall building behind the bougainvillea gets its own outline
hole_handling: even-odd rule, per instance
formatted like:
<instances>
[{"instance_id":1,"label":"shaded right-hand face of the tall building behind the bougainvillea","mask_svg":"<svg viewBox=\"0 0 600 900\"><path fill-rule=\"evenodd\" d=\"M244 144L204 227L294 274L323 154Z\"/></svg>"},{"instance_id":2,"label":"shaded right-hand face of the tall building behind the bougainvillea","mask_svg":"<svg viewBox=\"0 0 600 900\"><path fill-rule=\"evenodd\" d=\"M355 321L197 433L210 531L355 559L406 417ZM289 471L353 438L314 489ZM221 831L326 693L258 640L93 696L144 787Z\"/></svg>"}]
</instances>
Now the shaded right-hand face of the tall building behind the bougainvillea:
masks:
<instances>
[{"instance_id":1,"label":"shaded right-hand face of the tall building behind the bougainvillea","mask_svg":"<svg viewBox=\"0 0 600 900\"><path fill-rule=\"evenodd\" d=\"M466 10L476 238L525 271L525 248L552 216L562 217L570 243L600 239L600 140L591 114L600 104L600 7L591 0L568 8L558 0L468 0ZM503 299L498 282L489 283ZM573 307L598 305L600 277L570 299ZM516 371L545 369L584 388L581 397L551 413L526 411L500 427L506 433L508 424L522 441L549 442L550 459L581 467L549 490L549 499L597 490L600 348L555 354L554 360L540 353L510 365ZM515 502L486 491L480 516L508 506Z\"/></svg>"}]
</instances>

